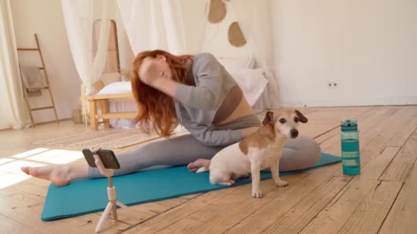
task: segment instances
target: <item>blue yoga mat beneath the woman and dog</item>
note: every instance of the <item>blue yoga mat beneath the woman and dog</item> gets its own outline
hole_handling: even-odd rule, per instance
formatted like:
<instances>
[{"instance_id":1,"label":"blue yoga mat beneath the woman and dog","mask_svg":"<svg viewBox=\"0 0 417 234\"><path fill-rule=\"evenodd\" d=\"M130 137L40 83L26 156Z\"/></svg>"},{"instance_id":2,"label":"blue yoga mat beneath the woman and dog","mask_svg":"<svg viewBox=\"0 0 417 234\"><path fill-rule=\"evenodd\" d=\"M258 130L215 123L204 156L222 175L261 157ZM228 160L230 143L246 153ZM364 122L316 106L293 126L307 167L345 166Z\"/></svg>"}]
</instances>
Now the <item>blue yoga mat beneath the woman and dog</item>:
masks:
<instances>
[{"instance_id":1,"label":"blue yoga mat beneath the woman and dog","mask_svg":"<svg viewBox=\"0 0 417 234\"><path fill-rule=\"evenodd\" d=\"M340 161L340 157L322 153L318 164L305 170L335 164ZM281 175L294 174L305 170L281 172ZM261 180L270 178L270 172L261 172ZM143 170L113 177L112 182L116 187L117 200L128 206L228 187L212 185L208 181L208 172L195 174L190 172L187 166ZM233 186L250 182L250 177L248 179L238 179ZM107 178L76 181L64 187L56 187L51 184L48 188L41 219L50 221L104 211L108 203L107 186Z\"/></svg>"}]
</instances>

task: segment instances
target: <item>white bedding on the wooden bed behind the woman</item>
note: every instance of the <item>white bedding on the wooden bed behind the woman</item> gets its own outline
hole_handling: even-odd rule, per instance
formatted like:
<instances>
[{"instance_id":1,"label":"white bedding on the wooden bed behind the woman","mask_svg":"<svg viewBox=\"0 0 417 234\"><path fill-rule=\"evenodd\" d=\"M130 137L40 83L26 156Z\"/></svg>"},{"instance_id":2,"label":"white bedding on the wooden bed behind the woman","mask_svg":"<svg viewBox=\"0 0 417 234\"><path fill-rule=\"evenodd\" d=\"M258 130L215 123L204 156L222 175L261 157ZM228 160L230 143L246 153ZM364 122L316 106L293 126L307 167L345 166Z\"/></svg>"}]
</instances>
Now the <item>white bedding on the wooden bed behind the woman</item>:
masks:
<instances>
[{"instance_id":1,"label":"white bedding on the wooden bed behind the woman","mask_svg":"<svg viewBox=\"0 0 417 234\"><path fill-rule=\"evenodd\" d=\"M248 103L256 112L278 107L276 80L270 70L265 68L238 68L236 66L224 65L230 75L239 84L243 94L248 99ZM130 81L110 83L97 94L119 94L126 92L132 92ZM136 112L137 110L134 99L114 99L110 100L109 104L110 112ZM130 119L111 119L110 125L117 129L132 128Z\"/></svg>"}]
</instances>

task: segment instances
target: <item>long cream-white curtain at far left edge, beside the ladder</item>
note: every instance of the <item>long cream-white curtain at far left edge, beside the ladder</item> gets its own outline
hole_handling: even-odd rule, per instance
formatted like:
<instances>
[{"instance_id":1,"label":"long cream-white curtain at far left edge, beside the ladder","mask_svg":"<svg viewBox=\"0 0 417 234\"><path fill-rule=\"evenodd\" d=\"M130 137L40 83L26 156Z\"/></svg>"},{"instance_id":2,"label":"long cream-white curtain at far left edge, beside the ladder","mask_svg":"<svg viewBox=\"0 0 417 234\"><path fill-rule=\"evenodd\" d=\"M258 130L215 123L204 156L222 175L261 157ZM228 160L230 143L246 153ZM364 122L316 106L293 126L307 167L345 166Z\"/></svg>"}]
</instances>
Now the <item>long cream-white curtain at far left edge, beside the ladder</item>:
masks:
<instances>
[{"instance_id":1,"label":"long cream-white curtain at far left edge, beside the ladder","mask_svg":"<svg viewBox=\"0 0 417 234\"><path fill-rule=\"evenodd\" d=\"M28 127L10 0L0 0L0 51L0 129Z\"/></svg>"}]
</instances>

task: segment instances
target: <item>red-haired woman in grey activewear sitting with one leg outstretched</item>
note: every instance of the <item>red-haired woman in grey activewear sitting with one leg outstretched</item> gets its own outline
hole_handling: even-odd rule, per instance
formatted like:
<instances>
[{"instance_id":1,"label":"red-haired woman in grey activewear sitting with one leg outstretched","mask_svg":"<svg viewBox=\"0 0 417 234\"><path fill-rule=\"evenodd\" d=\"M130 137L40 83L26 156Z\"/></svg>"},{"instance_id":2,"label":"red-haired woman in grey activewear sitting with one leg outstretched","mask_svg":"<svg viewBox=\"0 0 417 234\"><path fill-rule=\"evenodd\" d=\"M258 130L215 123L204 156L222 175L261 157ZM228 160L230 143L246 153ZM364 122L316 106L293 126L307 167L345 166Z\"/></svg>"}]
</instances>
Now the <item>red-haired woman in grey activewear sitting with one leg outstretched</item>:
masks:
<instances>
[{"instance_id":1,"label":"red-haired woman in grey activewear sitting with one leg outstretched","mask_svg":"<svg viewBox=\"0 0 417 234\"><path fill-rule=\"evenodd\" d=\"M138 105L134 123L143 131L154 129L169 136L180 123L191 134L118 154L121 168L115 170L116 175L156 165L188 164L189 170L195 171L208 166L222 148L261 126L241 88L210 53L178 56L161 50L144 51L134 60L131 82ZM285 145L280 171L307 168L318 159L320 146L300 136ZM57 186L74 179L102 177L85 161L22 170Z\"/></svg>"}]
</instances>

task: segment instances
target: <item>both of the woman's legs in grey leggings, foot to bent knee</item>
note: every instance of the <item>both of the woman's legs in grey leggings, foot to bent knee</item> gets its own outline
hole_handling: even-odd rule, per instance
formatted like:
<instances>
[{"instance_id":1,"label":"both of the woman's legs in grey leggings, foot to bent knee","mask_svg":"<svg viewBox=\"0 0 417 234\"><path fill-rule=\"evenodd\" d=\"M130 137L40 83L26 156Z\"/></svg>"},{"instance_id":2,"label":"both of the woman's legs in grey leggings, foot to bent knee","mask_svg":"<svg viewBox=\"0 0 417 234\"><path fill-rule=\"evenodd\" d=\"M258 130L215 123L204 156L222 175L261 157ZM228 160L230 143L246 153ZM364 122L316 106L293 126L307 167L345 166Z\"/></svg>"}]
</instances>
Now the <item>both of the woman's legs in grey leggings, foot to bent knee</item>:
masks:
<instances>
[{"instance_id":1,"label":"both of the woman's legs in grey leggings, foot to bent knee","mask_svg":"<svg viewBox=\"0 0 417 234\"><path fill-rule=\"evenodd\" d=\"M205 146L192 135L182 135L169 140L151 142L128 153L117 154L121 168L115 175L128 174L156 165L189 165L190 170L209 164L217 152L224 147ZM279 170L298 170L313 166L320 159L320 146L312 139L298 137L285 144L280 160ZM194 168L195 167L195 168ZM23 167L23 172L33 177L47 179L54 185L67 185L74 179L102 177L97 168L91 168L86 161L75 161L64 165L49 165L38 168Z\"/></svg>"}]
</instances>

